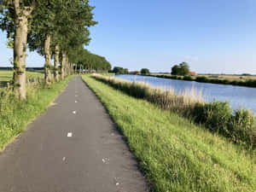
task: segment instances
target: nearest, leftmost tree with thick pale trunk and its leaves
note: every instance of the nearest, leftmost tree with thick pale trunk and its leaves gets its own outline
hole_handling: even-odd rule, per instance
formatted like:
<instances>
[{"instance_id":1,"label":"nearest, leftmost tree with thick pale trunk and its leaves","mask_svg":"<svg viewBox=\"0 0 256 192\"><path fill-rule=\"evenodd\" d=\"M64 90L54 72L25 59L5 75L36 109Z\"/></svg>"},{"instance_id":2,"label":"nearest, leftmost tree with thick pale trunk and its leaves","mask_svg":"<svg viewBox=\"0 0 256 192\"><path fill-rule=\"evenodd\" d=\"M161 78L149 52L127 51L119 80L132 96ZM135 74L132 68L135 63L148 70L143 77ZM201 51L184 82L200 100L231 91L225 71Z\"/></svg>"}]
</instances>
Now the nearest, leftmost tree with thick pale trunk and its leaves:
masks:
<instances>
[{"instance_id":1,"label":"nearest, leftmost tree with thick pale trunk and its leaves","mask_svg":"<svg viewBox=\"0 0 256 192\"><path fill-rule=\"evenodd\" d=\"M36 0L0 1L0 28L7 37L14 39L14 88L15 95L26 98L26 41L32 11Z\"/></svg>"}]
</instances>

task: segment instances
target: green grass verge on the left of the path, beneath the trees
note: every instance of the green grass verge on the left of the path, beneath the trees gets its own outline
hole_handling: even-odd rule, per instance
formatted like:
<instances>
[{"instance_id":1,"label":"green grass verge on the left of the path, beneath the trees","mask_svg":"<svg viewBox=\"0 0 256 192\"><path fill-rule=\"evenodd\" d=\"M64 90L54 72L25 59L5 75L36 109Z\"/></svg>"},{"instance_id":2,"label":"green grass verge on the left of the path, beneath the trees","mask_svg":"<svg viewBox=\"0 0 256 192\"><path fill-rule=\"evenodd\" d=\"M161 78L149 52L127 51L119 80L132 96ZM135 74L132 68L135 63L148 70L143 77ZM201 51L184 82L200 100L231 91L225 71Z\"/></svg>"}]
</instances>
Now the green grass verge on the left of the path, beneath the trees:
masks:
<instances>
[{"instance_id":1,"label":"green grass verge on the left of the path, beneath the trees","mask_svg":"<svg viewBox=\"0 0 256 192\"><path fill-rule=\"evenodd\" d=\"M14 96L1 96L0 151L14 137L24 131L33 119L47 110L49 103L67 86L69 79L69 77L63 79L53 84L49 89L28 90L27 99L21 102Z\"/></svg>"}]
</instances>

